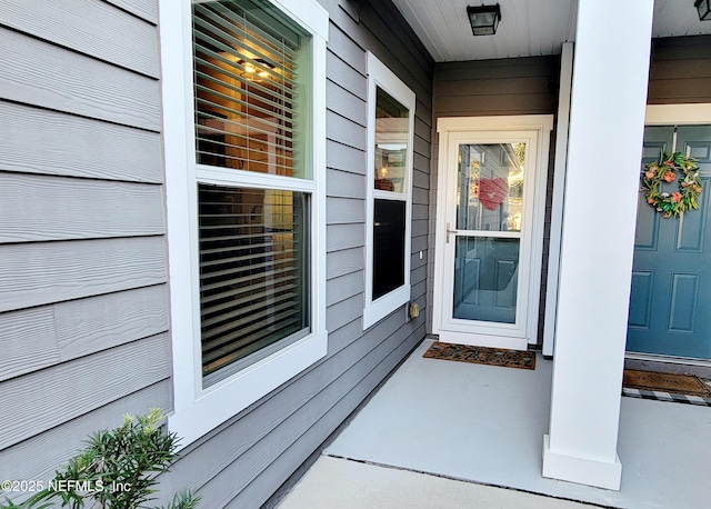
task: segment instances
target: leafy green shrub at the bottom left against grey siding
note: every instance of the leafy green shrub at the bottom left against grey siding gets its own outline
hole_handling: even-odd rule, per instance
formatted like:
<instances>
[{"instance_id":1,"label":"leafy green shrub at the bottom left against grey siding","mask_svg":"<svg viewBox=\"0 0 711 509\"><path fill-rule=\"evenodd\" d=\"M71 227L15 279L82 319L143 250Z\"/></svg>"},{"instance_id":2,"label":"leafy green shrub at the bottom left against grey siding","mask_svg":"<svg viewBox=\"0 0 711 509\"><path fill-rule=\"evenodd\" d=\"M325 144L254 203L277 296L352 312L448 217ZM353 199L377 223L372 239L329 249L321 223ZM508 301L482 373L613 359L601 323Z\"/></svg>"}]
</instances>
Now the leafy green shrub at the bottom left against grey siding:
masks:
<instances>
[{"instance_id":1,"label":"leafy green shrub at the bottom left against grey siding","mask_svg":"<svg viewBox=\"0 0 711 509\"><path fill-rule=\"evenodd\" d=\"M179 457L177 435L160 429L163 418L158 408L141 417L124 416L118 428L93 433L47 488L20 506L8 501L0 509L46 509L57 503L82 509L87 501L100 509L144 507L156 492L158 476ZM181 491L160 509L193 509L199 500L191 491Z\"/></svg>"}]
</instances>

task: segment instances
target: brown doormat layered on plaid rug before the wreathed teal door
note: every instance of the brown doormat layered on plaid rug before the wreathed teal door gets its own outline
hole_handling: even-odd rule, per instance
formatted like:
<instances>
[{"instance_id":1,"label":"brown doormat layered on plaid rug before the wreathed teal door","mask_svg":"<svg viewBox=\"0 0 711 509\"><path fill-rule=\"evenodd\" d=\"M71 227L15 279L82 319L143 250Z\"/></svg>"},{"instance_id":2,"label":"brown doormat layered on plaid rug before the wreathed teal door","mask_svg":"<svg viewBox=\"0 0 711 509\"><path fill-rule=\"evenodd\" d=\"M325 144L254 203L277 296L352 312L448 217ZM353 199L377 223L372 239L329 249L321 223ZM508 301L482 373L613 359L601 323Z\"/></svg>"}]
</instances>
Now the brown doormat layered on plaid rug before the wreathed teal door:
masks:
<instances>
[{"instance_id":1,"label":"brown doormat layered on plaid rug before the wreathed teal door","mask_svg":"<svg viewBox=\"0 0 711 509\"><path fill-rule=\"evenodd\" d=\"M622 396L711 407L709 382L690 375L625 369Z\"/></svg>"}]
</instances>

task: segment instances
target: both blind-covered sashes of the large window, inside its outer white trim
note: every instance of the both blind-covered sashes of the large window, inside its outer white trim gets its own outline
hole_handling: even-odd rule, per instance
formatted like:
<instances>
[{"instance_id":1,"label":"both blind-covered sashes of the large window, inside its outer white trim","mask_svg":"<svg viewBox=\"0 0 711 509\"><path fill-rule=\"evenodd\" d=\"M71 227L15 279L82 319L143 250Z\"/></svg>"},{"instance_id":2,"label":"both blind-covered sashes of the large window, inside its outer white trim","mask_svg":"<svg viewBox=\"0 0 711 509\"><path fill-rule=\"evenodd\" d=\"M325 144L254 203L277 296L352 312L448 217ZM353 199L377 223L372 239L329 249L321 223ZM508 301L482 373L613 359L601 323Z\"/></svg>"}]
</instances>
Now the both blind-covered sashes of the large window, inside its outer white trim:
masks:
<instances>
[{"instance_id":1,"label":"both blind-covered sashes of the large window, inside its outer white trim","mask_svg":"<svg viewBox=\"0 0 711 509\"><path fill-rule=\"evenodd\" d=\"M310 36L262 0L192 6L203 387L311 332Z\"/></svg>"}]
</instances>

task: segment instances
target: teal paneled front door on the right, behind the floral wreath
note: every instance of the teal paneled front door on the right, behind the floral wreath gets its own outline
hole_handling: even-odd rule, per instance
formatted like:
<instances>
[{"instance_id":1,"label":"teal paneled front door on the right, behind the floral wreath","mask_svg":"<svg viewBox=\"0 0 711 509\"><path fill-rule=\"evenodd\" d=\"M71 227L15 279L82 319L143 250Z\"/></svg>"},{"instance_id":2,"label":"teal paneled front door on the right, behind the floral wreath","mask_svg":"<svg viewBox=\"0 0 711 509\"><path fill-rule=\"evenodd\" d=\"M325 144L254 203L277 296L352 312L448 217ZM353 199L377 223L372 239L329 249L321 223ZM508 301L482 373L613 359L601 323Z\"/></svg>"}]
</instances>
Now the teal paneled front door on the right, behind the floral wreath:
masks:
<instances>
[{"instance_id":1,"label":"teal paneled front door on the right, behind the floral wreath","mask_svg":"<svg viewBox=\"0 0 711 509\"><path fill-rule=\"evenodd\" d=\"M648 127L642 162L662 151L694 157L703 191L681 218L639 200L627 350L711 359L711 126ZM679 181L664 186L673 192Z\"/></svg>"}]
</instances>

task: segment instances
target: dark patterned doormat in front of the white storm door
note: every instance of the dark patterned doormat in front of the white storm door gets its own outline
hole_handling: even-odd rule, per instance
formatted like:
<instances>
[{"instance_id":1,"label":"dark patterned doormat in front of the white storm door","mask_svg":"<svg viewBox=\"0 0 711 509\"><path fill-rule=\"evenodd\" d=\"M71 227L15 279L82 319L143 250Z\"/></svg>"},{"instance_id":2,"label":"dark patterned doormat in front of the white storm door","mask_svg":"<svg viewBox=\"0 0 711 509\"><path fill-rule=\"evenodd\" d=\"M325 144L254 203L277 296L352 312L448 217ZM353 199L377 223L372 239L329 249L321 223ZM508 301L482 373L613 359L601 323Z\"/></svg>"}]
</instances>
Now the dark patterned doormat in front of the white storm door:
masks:
<instances>
[{"instance_id":1,"label":"dark patterned doormat in front of the white storm door","mask_svg":"<svg viewBox=\"0 0 711 509\"><path fill-rule=\"evenodd\" d=\"M434 341L422 357L458 360L475 365L503 366L505 368L535 369L535 352L504 350L501 348L470 347Z\"/></svg>"}]
</instances>

